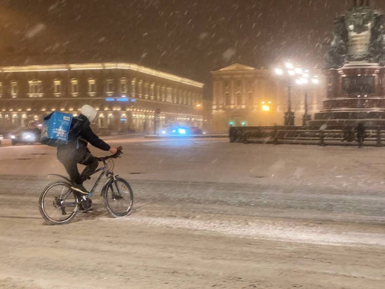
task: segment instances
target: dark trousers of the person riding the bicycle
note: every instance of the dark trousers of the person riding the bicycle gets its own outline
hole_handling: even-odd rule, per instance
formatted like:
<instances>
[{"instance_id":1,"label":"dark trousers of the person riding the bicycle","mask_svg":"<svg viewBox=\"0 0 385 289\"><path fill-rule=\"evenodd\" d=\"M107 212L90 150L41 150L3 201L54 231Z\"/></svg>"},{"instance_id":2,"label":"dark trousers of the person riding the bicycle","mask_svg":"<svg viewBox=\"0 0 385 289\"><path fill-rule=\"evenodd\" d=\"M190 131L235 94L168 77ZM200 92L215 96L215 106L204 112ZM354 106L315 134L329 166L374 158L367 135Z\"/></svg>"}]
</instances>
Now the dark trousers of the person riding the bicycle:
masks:
<instances>
[{"instance_id":1,"label":"dark trousers of the person riding the bicycle","mask_svg":"<svg viewBox=\"0 0 385 289\"><path fill-rule=\"evenodd\" d=\"M76 184L82 184L87 180L99 165L97 158L91 155L87 149L58 150L57 158L64 165L72 183ZM81 174L77 169L78 163L86 166Z\"/></svg>"}]
</instances>

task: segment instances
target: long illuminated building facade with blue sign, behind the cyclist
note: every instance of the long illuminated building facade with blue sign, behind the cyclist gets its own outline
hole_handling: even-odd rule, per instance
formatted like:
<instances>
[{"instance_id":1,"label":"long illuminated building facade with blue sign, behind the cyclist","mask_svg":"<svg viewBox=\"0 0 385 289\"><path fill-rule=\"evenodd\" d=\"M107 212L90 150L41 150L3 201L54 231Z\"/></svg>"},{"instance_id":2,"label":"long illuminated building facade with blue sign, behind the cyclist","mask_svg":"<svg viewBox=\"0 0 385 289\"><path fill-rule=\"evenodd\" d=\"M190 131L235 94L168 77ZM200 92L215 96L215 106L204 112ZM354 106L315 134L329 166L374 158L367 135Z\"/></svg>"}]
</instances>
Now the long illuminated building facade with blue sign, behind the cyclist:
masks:
<instances>
[{"instance_id":1,"label":"long illuminated building facade with blue sign, behind the cyclist","mask_svg":"<svg viewBox=\"0 0 385 289\"><path fill-rule=\"evenodd\" d=\"M50 111L97 109L95 125L118 131L201 126L203 83L129 63L0 67L0 128L41 122Z\"/></svg>"}]
</instances>

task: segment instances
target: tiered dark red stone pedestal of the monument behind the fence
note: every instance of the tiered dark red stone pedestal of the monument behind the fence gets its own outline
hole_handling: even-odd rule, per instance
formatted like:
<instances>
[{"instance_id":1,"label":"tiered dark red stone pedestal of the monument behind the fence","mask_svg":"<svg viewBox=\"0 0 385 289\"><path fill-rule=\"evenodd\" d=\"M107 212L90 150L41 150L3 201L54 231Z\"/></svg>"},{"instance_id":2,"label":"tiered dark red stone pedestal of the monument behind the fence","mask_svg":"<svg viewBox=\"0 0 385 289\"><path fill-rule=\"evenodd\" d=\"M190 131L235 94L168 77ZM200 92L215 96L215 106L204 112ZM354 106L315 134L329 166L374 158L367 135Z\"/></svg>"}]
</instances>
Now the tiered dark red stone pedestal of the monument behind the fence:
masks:
<instances>
[{"instance_id":1,"label":"tiered dark red stone pedestal of the monument behind the fence","mask_svg":"<svg viewBox=\"0 0 385 289\"><path fill-rule=\"evenodd\" d=\"M324 71L327 98L308 125L385 126L384 71L383 66L364 62Z\"/></svg>"}]
</instances>

